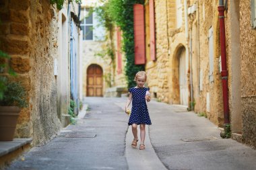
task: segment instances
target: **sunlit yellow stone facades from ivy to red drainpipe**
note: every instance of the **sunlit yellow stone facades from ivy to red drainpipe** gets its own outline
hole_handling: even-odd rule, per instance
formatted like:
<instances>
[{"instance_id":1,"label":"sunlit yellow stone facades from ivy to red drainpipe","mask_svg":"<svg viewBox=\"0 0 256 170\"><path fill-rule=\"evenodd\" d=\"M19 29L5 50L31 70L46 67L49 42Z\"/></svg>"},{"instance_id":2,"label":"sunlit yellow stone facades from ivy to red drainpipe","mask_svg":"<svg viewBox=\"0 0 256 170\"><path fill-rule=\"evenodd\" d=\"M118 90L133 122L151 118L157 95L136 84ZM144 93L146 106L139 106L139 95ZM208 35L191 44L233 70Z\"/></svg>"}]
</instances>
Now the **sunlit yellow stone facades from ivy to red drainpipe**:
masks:
<instances>
[{"instance_id":1,"label":"sunlit yellow stone facades from ivy to red drainpipe","mask_svg":"<svg viewBox=\"0 0 256 170\"><path fill-rule=\"evenodd\" d=\"M151 54L146 52L146 72L154 97L170 104L195 107L195 112L205 114L222 126L216 4L213 1L201 1L199 5L198 1L153 1L153 11L148 7L150 2L145 10L146 51L150 51L152 45L148 33L152 28L148 25L155 22L156 60L151 60ZM147 19L151 13L154 19Z\"/></svg>"}]
</instances>

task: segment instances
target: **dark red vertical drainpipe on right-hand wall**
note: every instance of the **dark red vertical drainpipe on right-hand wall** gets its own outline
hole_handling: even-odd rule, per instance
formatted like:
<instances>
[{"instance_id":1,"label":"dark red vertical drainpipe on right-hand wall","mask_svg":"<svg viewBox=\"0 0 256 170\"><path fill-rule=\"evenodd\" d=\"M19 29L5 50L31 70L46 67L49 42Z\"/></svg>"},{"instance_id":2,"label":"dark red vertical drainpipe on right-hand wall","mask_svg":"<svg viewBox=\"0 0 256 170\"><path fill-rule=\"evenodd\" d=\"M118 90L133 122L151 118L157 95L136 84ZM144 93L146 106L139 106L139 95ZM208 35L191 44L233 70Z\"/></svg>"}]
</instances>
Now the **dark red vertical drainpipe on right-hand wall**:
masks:
<instances>
[{"instance_id":1,"label":"dark red vertical drainpipe on right-hand wall","mask_svg":"<svg viewBox=\"0 0 256 170\"><path fill-rule=\"evenodd\" d=\"M229 124L229 108L228 108L228 71L226 68L226 38L225 38L225 22L224 22L224 2L219 0L219 20L220 20L220 49L222 61L222 91L223 91L223 108L224 108L224 124Z\"/></svg>"}]
</instances>

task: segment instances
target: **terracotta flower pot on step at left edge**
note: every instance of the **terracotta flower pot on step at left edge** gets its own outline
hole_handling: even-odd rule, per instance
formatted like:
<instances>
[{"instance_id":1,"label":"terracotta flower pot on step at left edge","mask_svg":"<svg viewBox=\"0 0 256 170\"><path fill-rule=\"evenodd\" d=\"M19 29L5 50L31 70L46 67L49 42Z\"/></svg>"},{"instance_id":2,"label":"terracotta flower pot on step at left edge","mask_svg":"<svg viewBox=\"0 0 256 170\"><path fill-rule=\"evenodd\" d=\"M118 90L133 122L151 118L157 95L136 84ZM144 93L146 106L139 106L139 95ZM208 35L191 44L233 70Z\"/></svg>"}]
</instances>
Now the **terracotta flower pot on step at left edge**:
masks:
<instances>
[{"instance_id":1,"label":"terracotta flower pot on step at left edge","mask_svg":"<svg viewBox=\"0 0 256 170\"><path fill-rule=\"evenodd\" d=\"M0 106L0 141L13 140L19 115L17 106Z\"/></svg>"}]
</instances>

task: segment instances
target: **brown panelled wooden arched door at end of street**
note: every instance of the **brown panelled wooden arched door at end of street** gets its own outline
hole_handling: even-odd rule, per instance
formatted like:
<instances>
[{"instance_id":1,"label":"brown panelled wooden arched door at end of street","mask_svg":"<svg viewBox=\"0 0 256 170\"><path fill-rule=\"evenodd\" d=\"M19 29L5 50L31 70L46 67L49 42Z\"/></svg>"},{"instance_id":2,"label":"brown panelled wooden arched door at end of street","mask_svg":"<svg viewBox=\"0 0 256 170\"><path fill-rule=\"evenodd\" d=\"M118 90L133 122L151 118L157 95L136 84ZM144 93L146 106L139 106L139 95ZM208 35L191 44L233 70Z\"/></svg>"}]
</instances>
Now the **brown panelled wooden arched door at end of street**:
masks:
<instances>
[{"instance_id":1,"label":"brown panelled wooden arched door at end of street","mask_svg":"<svg viewBox=\"0 0 256 170\"><path fill-rule=\"evenodd\" d=\"M103 71L99 65L90 65L87 69L87 96L103 96Z\"/></svg>"}]
</instances>

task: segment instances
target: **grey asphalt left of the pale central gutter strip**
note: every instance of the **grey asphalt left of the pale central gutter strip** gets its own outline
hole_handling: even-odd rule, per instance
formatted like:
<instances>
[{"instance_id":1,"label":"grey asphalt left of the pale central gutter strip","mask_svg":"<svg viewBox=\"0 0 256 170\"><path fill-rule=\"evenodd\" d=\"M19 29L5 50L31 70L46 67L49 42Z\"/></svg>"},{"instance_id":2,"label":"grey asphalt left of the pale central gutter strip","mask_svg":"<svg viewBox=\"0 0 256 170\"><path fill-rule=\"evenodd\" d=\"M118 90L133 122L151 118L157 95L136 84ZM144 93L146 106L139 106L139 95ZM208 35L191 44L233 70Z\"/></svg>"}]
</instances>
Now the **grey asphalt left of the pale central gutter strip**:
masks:
<instances>
[{"instance_id":1,"label":"grey asphalt left of the pale central gutter strip","mask_svg":"<svg viewBox=\"0 0 256 170\"><path fill-rule=\"evenodd\" d=\"M88 98L84 119L44 146L32 148L9 170L128 169L125 158L127 115L115 99ZM121 114L122 113L122 114Z\"/></svg>"}]
</instances>

